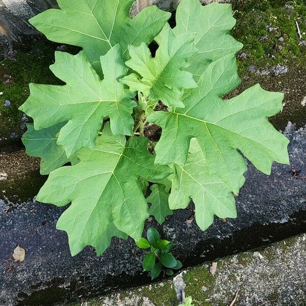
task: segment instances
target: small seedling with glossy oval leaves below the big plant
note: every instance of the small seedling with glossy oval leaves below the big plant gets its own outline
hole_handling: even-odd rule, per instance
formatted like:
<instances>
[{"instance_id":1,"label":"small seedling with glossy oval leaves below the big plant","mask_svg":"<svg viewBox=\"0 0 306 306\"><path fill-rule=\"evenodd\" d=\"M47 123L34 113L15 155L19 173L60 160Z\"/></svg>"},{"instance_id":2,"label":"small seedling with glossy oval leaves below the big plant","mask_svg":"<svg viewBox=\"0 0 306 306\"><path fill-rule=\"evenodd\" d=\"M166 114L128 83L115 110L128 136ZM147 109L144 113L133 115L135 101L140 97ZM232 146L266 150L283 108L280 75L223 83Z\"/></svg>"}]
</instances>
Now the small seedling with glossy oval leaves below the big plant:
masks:
<instances>
[{"instance_id":1,"label":"small seedling with glossy oval leaves below the big plant","mask_svg":"<svg viewBox=\"0 0 306 306\"><path fill-rule=\"evenodd\" d=\"M150 248L150 252L143 259L143 271L150 271L151 279L158 277L161 272L173 275L174 270L181 269L183 264L174 258L170 252L174 244L168 240L160 239L158 231L149 227L147 239L140 238L136 245L142 249Z\"/></svg>"}]
</instances>

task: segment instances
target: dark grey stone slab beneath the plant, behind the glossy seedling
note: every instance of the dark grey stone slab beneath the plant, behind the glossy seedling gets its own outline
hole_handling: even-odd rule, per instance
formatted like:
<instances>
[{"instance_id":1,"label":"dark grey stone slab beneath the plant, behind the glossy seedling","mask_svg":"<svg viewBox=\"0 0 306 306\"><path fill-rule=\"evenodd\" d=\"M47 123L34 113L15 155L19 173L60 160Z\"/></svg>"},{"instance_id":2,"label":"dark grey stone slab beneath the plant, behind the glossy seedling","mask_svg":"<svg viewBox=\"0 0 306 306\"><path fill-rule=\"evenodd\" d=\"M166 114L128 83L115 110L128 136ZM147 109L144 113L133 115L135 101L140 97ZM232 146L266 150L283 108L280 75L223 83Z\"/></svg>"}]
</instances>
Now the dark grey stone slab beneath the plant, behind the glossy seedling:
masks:
<instances>
[{"instance_id":1,"label":"dark grey stone slab beneath the plant, behind the glossy seedling","mask_svg":"<svg viewBox=\"0 0 306 306\"><path fill-rule=\"evenodd\" d=\"M306 128L294 131L289 124L286 135L291 166L299 174L293 176L291 166L274 164L267 176L249 165L237 198L237 219L216 218L202 232L195 222L185 222L193 214L186 209L175 211L162 226L152 219L146 226L155 226L176 243L174 253L184 266L306 232ZM71 258L66 234L55 229L63 210L35 201L17 205L0 200L0 304L47 306L149 282L142 273L143 252L131 239L114 240L99 258L90 247ZM26 252L22 263L11 260L17 245Z\"/></svg>"}]
</instances>

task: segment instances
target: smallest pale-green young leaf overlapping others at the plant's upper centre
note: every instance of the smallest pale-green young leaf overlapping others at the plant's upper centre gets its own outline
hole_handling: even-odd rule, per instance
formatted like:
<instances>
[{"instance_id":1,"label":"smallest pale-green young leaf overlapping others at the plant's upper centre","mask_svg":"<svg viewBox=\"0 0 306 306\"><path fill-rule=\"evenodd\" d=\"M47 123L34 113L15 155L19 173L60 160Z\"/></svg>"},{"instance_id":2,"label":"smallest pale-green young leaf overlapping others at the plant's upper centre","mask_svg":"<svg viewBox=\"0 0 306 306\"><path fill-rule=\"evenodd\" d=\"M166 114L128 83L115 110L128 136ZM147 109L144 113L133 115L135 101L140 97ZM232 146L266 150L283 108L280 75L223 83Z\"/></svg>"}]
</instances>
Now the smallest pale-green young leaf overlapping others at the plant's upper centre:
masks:
<instances>
[{"instance_id":1,"label":"smallest pale-green young leaf overlapping others at the plant's upper centre","mask_svg":"<svg viewBox=\"0 0 306 306\"><path fill-rule=\"evenodd\" d=\"M192 73L184 71L187 59L196 54L193 39L195 33L174 35L169 24L155 38L159 44L155 58L145 43L129 46L131 59L125 64L141 75L132 73L121 82L132 91L140 91L151 100L161 100L167 106L184 107L181 101L183 89L194 88Z\"/></svg>"}]
</instances>

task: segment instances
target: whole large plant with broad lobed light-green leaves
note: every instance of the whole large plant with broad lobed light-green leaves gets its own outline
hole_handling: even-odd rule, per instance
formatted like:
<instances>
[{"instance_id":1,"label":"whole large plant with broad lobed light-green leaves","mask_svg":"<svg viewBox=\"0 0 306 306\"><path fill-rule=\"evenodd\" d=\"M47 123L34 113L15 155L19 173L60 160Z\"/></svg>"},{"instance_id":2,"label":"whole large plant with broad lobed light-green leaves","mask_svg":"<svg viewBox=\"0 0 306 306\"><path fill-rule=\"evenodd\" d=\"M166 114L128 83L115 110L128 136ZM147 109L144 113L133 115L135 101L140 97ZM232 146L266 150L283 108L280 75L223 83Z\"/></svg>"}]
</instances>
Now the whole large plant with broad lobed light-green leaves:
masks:
<instances>
[{"instance_id":1,"label":"whole large plant with broad lobed light-green leaves","mask_svg":"<svg viewBox=\"0 0 306 306\"><path fill-rule=\"evenodd\" d=\"M182 0L172 29L156 6L130 18L133 2L61 0L30 19L48 39L83 48L56 52L50 69L65 85L30 84L20 107L34 120L27 153L49 174L37 200L71 202L57 228L73 256L87 245L100 255L114 236L139 241L149 215L162 223L191 200L205 231L215 215L236 217L243 156L266 174L273 161L289 163L288 139L268 121L282 93L255 85L222 98L240 83L231 5ZM158 141L146 137L148 123L161 127ZM152 259L162 255L150 247Z\"/></svg>"}]
</instances>

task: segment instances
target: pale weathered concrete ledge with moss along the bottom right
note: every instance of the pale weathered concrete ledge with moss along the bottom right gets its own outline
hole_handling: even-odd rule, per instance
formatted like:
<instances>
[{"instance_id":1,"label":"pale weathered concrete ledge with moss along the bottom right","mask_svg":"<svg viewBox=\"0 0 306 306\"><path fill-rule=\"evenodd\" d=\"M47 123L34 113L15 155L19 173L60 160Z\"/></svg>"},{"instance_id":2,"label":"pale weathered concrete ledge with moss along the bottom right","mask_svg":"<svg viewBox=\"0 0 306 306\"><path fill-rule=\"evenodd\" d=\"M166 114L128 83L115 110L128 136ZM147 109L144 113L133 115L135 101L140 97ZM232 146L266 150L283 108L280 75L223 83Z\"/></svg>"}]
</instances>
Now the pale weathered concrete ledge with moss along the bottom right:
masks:
<instances>
[{"instance_id":1,"label":"pale weathered concrete ledge with moss along the bottom right","mask_svg":"<svg viewBox=\"0 0 306 306\"><path fill-rule=\"evenodd\" d=\"M219 259L182 271L178 276L185 296L194 305L305 305L306 234L269 247ZM176 306L177 276L154 285L77 302L73 306Z\"/></svg>"}]
</instances>

